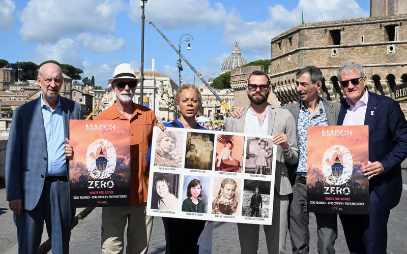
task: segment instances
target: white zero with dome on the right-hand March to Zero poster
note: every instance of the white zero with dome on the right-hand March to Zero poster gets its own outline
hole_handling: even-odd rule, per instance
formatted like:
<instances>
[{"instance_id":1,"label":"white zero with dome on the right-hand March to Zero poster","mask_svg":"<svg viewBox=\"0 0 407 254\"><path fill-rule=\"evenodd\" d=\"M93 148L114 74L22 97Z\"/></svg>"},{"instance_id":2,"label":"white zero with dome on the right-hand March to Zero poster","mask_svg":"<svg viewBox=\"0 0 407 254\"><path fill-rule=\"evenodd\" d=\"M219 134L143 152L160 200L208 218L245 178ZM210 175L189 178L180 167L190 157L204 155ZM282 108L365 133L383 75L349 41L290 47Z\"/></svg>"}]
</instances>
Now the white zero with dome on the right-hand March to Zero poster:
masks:
<instances>
[{"instance_id":1,"label":"white zero with dome on the right-hand March to Zero poster","mask_svg":"<svg viewBox=\"0 0 407 254\"><path fill-rule=\"evenodd\" d=\"M325 181L333 185L341 185L352 176L352 154L342 145L333 145L324 152L322 158L322 171Z\"/></svg>"}]
</instances>

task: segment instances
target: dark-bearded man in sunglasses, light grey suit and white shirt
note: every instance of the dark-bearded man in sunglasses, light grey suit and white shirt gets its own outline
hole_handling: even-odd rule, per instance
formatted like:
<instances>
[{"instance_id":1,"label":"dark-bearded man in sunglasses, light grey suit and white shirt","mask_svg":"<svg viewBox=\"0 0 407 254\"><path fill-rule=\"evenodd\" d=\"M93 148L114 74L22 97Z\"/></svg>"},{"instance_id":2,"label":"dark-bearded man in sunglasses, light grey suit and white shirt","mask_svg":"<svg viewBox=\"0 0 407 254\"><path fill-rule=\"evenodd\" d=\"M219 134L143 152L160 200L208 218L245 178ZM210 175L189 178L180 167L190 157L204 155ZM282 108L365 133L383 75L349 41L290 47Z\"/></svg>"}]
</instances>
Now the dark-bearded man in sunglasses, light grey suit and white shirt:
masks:
<instances>
[{"instance_id":1,"label":"dark-bearded man in sunglasses, light grey suit and white shirt","mask_svg":"<svg viewBox=\"0 0 407 254\"><path fill-rule=\"evenodd\" d=\"M287 232L288 195L292 188L286 164L298 162L298 147L294 117L285 109L276 108L267 102L271 91L266 73L254 71L248 79L247 96L250 105L241 118L228 118L225 131L273 135L277 144L275 190L273 202L273 224L265 225L267 250L269 253L285 253ZM259 225L238 224L242 253L257 253Z\"/></svg>"}]
</instances>

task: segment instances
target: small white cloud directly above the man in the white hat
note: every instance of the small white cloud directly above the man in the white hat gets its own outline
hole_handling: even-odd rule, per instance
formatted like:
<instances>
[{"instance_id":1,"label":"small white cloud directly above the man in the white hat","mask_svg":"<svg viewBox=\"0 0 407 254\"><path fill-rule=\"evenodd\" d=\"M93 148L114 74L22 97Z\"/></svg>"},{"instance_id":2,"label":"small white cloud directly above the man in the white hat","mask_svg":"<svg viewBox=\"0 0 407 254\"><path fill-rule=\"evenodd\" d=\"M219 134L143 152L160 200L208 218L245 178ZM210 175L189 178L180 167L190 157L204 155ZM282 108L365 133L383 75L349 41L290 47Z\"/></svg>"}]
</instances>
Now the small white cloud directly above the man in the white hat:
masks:
<instances>
[{"instance_id":1,"label":"small white cloud directly above the man in the white hat","mask_svg":"<svg viewBox=\"0 0 407 254\"><path fill-rule=\"evenodd\" d=\"M83 47L89 48L96 52L111 52L124 47L125 40L123 38L116 39L112 35L93 36L90 33L82 33L76 37L76 41L81 43Z\"/></svg>"}]
</instances>

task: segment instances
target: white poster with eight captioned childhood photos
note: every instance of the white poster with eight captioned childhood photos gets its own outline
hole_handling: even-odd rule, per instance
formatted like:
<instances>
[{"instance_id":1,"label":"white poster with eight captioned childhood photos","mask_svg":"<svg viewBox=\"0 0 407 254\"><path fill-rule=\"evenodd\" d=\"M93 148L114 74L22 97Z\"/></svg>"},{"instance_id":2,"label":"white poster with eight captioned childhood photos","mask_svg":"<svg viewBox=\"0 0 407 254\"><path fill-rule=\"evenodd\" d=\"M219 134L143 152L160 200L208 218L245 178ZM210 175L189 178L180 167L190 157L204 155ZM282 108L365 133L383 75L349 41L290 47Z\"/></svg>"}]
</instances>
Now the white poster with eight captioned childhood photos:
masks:
<instances>
[{"instance_id":1,"label":"white poster with eight captioned childhood photos","mask_svg":"<svg viewBox=\"0 0 407 254\"><path fill-rule=\"evenodd\" d=\"M272 136L154 127L147 214L272 223Z\"/></svg>"}]
</instances>

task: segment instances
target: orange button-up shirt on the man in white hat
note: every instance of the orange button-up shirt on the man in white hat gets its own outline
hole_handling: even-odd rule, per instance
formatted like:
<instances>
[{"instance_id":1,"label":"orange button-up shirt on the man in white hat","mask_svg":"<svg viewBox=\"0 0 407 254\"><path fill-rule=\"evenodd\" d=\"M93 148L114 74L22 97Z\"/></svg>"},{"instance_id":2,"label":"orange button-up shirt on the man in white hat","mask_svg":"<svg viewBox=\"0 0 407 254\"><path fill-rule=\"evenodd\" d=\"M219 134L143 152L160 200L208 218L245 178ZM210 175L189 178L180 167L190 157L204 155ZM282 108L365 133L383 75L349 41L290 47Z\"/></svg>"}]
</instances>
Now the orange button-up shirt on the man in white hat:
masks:
<instances>
[{"instance_id":1,"label":"orange button-up shirt on the man in white hat","mask_svg":"<svg viewBox=\"0 0 407 254\"><path fill-rule=\"evenodd\" d=\"M95 120L128 121L116 106L116 103L95 117ZM153 126L157 123L154 112L144 106L133 103L130 117L130 204L147 202L150 168L147 152L151 146ZM137 195L138 191L138 195Z\"/></svg>"}]
</instances>

